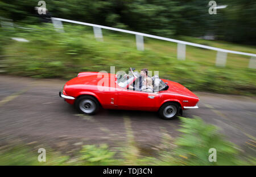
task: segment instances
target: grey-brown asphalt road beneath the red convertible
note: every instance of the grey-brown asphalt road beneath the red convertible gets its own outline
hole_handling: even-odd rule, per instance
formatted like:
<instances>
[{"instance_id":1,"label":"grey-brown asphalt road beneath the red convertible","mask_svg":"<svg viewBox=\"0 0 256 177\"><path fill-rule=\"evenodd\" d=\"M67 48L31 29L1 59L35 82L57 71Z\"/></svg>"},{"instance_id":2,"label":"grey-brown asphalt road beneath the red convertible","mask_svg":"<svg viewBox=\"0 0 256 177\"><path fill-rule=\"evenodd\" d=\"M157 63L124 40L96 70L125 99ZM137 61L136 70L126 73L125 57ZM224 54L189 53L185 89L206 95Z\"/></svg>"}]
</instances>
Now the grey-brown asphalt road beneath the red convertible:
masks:
<instances>
[{"instance_id":1,"label":"grey-brown asphalt road beneath the red convertible","mask_svg":"<svg viewBox=\"0 0 256 177\"><path fill-rule=\"evenodd\" d=\"M127 140L127 123L142 149L154 149L163 132L179 136L179 119L162 120L154 112L102 110L94 116L80 115L59 97L65 82L0 75L0 145L18 138L66 151L82 144L119 146ZM255 153L255 97L195 94L200 108L184 111L184 117L200 116L217 125L228 140Z\"/></svg>"}]
</instances>

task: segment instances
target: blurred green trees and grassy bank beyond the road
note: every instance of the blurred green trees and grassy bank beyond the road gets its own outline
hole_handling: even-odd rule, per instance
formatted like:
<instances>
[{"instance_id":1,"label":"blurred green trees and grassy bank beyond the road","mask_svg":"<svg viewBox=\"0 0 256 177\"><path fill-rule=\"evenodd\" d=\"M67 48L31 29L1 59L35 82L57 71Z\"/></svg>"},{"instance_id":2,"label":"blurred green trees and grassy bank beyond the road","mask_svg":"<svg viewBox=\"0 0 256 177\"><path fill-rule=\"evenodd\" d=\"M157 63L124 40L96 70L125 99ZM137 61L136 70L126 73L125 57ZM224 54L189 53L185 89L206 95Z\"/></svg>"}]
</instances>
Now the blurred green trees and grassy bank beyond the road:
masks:
<instances>
[{"instance_id":1,"label":"blurred green trees and grassy bank beyond the road","mask_svg":"<svg viewBox=\"0 0 256 177\"><path fill-rule=\"evenodd\" d=\"M61 33L51 20L76 20L255 54L254 1L218 1L217 7L226 8L212 15L209 1L45 2L48 11L40 15L35 9L42 7L39 1L1 1L0 52L2 60L8 59L1 61L2 72L73 78L80 71L110 71L110 65L126 70L133 64L158 70L162 78L192 91L255 94L255 57L228 53L223 69L215 66L217 51L186 45L186 60L178 61L176 43L144 37L141 52L135 35L102 29L104 42L99 43L92 27L64 22ZM249 67L250 61L254 67Z\"/></svg>"}]
</instances>

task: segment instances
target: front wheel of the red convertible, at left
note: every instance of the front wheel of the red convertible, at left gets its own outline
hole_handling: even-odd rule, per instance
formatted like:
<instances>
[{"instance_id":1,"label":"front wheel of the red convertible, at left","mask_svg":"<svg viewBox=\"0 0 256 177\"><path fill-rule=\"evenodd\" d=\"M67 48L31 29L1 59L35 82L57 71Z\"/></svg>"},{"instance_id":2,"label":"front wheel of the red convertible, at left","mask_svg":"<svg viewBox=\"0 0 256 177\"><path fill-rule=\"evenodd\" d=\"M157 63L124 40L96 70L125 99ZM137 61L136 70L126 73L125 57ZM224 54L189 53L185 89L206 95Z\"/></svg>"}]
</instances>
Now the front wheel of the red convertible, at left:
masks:
<instances>
[{"instance_id":1,"label":"front wheel of the red convertible, at left","mask_svg":"<svg viewBox=\"0 0 256 177\"><path fill-rule=\"evenodd\" d=\"M93 96L84 95L76 100L75 108L86 115L94 115L100 109L100 103Z\"/></svg>"}]
</instances>

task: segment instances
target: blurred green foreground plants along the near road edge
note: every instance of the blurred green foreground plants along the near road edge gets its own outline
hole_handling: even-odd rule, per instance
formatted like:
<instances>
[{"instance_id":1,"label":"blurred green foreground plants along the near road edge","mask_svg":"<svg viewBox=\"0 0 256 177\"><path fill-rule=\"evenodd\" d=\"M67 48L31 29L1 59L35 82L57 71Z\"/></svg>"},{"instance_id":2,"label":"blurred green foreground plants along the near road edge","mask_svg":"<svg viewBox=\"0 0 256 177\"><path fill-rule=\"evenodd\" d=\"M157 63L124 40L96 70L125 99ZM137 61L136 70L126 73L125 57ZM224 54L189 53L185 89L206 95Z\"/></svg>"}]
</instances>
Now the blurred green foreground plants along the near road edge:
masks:
<instances>
[{"instance_id":1,"label":"blurred green foreground plants along the near road edge","mask_svg":"<svg viewBox=\"0 0 256 177\"><path fill-rule=\"evenodd\" d=\"M46 162L38 162L35 148L19 145L1 150L0 165L256 165L255 158L241 154L241 150L224 140L213 125L205 124L199 117L180 119L181 136L174 140L162 130L162 144L156 155L143 155L138 149L126 118L125 147L84 145L72 157L47 150ZM216 149L217 162L208 161L210 148Z\"/></svg>"}]
</instances>

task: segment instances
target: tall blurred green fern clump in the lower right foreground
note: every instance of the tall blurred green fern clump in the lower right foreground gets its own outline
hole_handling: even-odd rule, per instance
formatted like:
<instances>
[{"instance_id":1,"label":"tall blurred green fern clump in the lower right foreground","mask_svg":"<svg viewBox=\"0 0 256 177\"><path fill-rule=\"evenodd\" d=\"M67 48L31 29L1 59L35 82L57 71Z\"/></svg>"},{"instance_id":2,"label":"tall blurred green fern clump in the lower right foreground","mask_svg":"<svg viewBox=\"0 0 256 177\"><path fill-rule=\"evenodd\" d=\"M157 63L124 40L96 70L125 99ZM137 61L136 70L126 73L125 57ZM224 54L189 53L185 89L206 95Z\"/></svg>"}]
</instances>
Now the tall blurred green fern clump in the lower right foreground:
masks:
<instances>
[{"instance_id":1,"label":"tall blurred green fern clump in the lower right foreground","mask_svg":"<svg viewBox=\"0 0 256 177\"><path fill-rule=\"evenodd\" d=\"M240 165L238 161L238 147L225 141L217 133L217 128L208 125L202 119L187 119L180 117L182 133L175 144L175 158L177 165ZM209 162L209 149L217 151L217 162Z\"/></svg>"}]
</instances>

